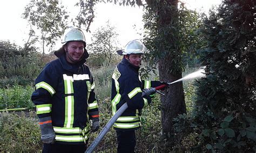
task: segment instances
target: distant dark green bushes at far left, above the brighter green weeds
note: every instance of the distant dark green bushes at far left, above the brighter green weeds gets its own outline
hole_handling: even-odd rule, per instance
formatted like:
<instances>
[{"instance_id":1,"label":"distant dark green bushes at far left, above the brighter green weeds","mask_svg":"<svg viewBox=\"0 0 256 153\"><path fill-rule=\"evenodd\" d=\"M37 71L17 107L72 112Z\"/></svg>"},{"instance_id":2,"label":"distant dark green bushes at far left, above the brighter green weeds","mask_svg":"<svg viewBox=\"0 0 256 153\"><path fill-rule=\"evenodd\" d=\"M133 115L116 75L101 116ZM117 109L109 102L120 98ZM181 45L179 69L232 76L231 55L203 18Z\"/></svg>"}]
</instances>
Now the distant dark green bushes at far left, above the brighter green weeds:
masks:
<instances>
[{"instance_id":1,"label":"distant dark green bushes at far left, above the brighter green weeds","mask_svg":"<svg viewBox=\"0 0 256 153\"><path fill-rule=\"evenodd\" d=\"M0 41L0 87L33 84L44 65L53 59L53 54L40 54L36 48Z\"/></svg>"}]
</instances>

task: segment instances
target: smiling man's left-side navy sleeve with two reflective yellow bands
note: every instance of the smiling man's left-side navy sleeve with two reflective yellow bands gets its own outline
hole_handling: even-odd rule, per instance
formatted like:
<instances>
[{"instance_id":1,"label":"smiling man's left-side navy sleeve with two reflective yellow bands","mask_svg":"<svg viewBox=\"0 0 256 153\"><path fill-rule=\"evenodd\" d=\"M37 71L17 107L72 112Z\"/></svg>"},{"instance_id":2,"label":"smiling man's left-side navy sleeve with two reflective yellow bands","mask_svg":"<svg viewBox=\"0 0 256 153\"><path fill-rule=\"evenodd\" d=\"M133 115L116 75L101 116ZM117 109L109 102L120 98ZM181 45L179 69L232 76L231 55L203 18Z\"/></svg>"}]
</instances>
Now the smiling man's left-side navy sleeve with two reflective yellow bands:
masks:
<instances>
[{"instance_id":1,"label":"smiling man's left-side navy sleeve with two reflective yellow bands","mask_svg":"<svg viewBox=\"0 0 256 153\"><path fill-rule=\"evenodd\" d=\"M35 80L36 90L32 93L31 100L36 105L39 118L51 116L51 99L58 84L58 77L53 72L53 69L46 65Z\"/></svg>"}]
</instances>

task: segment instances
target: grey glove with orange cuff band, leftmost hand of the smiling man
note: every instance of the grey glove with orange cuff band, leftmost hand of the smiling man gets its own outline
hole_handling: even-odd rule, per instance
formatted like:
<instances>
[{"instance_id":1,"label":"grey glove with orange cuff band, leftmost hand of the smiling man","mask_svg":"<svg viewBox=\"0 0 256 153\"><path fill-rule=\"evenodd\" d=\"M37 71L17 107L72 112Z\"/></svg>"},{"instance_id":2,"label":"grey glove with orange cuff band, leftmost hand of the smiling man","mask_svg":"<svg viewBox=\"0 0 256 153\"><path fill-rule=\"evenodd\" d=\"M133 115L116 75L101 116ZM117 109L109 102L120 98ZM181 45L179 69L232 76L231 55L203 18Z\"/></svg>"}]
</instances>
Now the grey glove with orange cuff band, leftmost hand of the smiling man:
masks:
<instances>
[{"instance_id":1,"label":"grey glove with orange cuff band, leftmost hand of the smiling man","mask_svg":"<svg viewBox=\"0 0 256 153\"><path fill-rule=\"evenodd\" d=\"M55 142L55 131L53 130L51 117L39 118L39 125L41 130L41 140L43 143L54 143Z\"/></svg>"}]
</instances>

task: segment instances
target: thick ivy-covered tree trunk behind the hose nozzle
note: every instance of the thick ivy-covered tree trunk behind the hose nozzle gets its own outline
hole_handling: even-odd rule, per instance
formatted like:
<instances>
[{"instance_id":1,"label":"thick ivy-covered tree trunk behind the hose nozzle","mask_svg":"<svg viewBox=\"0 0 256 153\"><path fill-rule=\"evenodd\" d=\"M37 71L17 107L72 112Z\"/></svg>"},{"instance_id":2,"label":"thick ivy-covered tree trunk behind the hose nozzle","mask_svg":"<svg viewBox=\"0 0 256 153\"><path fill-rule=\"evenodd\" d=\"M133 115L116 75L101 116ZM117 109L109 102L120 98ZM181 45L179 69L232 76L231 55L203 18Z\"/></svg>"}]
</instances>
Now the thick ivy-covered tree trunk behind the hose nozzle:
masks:
<instances>
[{"instance_id":1,"label":"thick ivy-covered tree trunk behind the hose nozzle","mask_svg":"<svg viewBox=\"0 0 256 153\"><path fill-rule=\"evenodd\" d=\"M178 0L146 0L153 12L153 26L149 29L152 32L154 53L160 54L158 58L158 70L161 81L172 82L182 78L182 52L180 48L180 27L178 16ZM154 23L156 22L156 23ZM151 23L150 23L151 24ZM150 25L149 24L149 25ZM178 114L186 113L185 96L182 82L170 85L161 96L161 122L163 134L172 143L174 133L173 118Z\"/></svg>"}]
</instances>

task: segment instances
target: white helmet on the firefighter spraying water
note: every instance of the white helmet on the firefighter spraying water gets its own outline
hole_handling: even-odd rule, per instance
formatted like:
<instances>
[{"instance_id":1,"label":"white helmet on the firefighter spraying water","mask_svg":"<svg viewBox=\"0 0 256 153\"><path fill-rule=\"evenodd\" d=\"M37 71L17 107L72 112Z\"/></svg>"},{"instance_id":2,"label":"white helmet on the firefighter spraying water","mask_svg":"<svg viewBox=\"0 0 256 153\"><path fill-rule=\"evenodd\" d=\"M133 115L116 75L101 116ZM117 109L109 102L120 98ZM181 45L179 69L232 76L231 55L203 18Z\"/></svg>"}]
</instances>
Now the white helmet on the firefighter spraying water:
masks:
<instances>
[{"instance_id":1,"label":"white helmet on the firefighter spraying water","mask_svg":"<svg viewBox=\"0 0 256 153\"><path fill-rule=\"evenodd\" d=\"M143 54L147 50L146 46L139 39L135 39L127 43L124 50L119 50L117 53L119 55L127 54Z\"/></svg>"}]
</instances>

